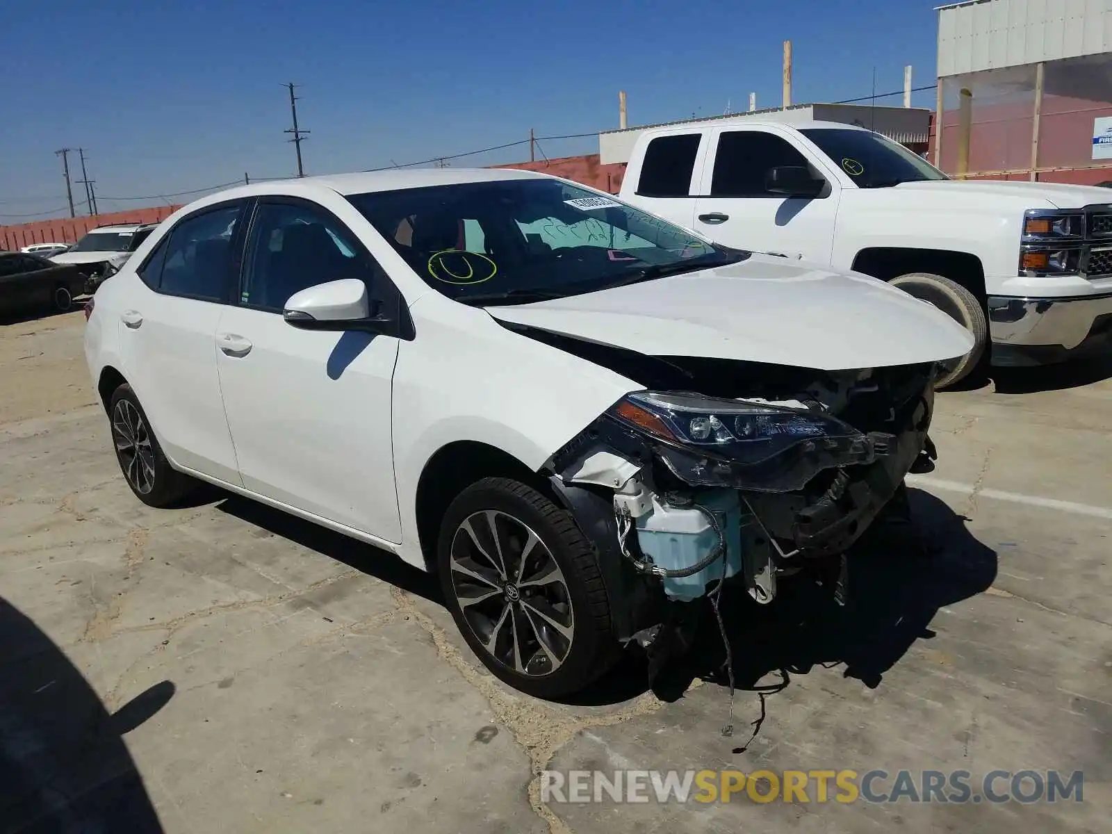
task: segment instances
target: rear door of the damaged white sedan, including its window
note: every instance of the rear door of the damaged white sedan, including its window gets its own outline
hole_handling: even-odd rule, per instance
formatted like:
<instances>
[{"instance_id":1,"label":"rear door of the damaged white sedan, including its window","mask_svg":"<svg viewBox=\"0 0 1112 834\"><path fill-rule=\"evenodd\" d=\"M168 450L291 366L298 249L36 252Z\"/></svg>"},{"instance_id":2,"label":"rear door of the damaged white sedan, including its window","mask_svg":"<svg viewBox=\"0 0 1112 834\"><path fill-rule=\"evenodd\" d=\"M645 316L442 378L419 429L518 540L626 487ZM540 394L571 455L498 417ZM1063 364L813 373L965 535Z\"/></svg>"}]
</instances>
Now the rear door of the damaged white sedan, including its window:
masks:
<instances>
[{"instance_id":1,"label":"rear door of the damaged white sedan, including its window","mask_svg":"<svg viewBox=\"0 0 1112 834\"><path fill-rule=\"evenodd\" d=\"M120 311L123 376L167 456L232 485L239 467L217 371L216 330L235 291L247 200L206 207L162 236Z\"/></svg>"}]
</instances>

